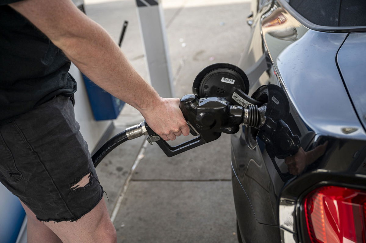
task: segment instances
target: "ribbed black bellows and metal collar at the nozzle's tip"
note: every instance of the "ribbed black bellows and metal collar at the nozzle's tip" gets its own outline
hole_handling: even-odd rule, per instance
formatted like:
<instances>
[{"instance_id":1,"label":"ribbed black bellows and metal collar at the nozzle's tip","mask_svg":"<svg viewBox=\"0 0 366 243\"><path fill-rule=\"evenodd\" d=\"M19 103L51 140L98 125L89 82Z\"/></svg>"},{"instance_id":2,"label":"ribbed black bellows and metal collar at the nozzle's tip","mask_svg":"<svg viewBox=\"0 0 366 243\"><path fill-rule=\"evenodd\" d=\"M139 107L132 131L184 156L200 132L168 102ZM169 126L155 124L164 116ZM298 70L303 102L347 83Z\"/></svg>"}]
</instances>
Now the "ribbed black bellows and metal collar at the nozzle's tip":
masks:
<instances>
[{"instance_id":1,"label":"ribbed black bellows and metal collar at the nozzle's tip","mask_svg":"<svg viewBox=\"0 0 366 243\"><path fill-rule=\"evenodd\" d=\"M249 105L247 108L244 108L243 124L246 127L261 128L266 121L266 109L267 104L264 104L259 108L257 105Z\"/></svg>"}]
</instances>

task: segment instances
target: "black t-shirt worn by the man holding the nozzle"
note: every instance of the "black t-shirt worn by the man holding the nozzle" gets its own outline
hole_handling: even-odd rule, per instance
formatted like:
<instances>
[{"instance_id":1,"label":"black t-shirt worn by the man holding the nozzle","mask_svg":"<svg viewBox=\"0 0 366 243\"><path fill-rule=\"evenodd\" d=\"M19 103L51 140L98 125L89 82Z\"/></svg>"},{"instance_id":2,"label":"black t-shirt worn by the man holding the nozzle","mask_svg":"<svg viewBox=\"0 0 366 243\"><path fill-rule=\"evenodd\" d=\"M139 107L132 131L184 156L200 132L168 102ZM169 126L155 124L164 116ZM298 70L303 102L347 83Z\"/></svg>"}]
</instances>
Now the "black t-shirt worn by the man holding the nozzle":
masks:
<instances>
[{"instance_id":1,"label":"black t-shirt worn by the man holding the nozzle","mask_svg":"<svg viewBox=\"0 0 366 243\"><path fill-rule=\"evenodd\" d=\"M40 30L0 0L0 124L52 99L72 96L70 60Z\"/></svg>"}]
</instances>

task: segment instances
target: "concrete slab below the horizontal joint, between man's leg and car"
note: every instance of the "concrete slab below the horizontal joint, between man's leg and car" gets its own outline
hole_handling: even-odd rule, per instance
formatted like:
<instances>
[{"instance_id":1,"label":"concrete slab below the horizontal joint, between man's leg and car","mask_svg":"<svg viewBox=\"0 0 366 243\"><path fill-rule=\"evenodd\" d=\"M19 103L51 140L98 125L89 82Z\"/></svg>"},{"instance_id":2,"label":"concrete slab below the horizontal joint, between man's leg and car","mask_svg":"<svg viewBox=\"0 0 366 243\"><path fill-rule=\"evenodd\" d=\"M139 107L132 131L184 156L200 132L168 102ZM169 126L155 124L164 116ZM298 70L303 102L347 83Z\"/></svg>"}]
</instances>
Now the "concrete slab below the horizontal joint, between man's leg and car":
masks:
<instances>
[{"instance_id":1,"label":"concrete slab below the horizontal joint, between man's leg and car","mask_svg":"<svg viewBox=\"0 0 366 243\"><path fill-rule=\"evenodd\" d=\"M132 181L118 241L237 242L231 198L229 181Z\"/></svg>"}]
</instances>

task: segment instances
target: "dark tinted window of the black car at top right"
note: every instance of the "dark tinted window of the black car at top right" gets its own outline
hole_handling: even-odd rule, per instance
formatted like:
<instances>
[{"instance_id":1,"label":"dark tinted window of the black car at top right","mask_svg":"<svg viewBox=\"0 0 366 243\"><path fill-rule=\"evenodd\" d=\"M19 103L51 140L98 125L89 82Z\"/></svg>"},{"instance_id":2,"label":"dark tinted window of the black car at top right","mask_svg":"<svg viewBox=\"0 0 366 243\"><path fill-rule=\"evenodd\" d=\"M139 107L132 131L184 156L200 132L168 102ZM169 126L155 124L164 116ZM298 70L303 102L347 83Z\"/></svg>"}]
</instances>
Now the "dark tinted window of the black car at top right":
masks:
<instances>
[{"instance_id":1,"label":"dark tinted window of the black car at top right","mask_svg":"<svg viewBox=\"0 0 366 243\"><path fill-rule=\"evenodd\" d=\"M366 26L365 0L289 0L300 15L321 26Z\"/></svg>"}]
</instances>

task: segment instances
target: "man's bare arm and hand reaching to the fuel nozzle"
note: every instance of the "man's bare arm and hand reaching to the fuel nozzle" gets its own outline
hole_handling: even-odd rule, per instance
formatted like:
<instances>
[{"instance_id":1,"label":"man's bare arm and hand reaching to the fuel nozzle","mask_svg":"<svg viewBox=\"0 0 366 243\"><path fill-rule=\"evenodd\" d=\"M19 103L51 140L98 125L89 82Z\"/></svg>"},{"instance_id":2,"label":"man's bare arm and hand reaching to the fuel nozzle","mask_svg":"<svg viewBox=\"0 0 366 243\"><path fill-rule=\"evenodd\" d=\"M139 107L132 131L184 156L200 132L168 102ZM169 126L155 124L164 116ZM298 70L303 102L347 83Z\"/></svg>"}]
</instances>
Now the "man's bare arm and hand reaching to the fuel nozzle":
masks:
<instances>
[{"instance_id":1,"label":"man's bare arm and hand reaching to the fuel nozzle","mask_svg":"<svg viewBox=\"0 0 366 243\"><path fill-rule=\"evenodd\" d=\"M160 98L108 33L71 0L23 0L10 6L40 29L98 86L138 109L164 140L189 134L179 99Z\"/></svg>"}]
</instances>

